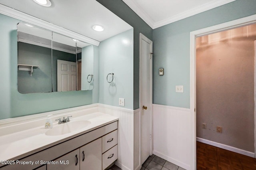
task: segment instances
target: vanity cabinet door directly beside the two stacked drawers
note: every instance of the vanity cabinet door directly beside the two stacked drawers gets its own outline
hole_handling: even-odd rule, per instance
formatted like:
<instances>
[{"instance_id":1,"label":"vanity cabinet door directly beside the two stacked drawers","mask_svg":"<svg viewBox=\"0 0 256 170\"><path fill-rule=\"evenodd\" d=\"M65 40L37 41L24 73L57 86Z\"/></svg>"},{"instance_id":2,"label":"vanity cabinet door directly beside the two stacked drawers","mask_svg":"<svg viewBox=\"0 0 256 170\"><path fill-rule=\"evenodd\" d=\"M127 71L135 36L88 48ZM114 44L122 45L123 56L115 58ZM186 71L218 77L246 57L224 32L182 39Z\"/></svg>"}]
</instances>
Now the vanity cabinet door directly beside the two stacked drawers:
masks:
<instances>
[{"instance_id":1,"label":"vanity cabinet door directly beside the two stacked drawers","mask_svg":"<svg viewBox=\"0 0 256 170\"><path fill-rule=\"evenodd\" d=\"M80 148L80 170L102 170L101 138Z\"/></svg>"}]
</instances>

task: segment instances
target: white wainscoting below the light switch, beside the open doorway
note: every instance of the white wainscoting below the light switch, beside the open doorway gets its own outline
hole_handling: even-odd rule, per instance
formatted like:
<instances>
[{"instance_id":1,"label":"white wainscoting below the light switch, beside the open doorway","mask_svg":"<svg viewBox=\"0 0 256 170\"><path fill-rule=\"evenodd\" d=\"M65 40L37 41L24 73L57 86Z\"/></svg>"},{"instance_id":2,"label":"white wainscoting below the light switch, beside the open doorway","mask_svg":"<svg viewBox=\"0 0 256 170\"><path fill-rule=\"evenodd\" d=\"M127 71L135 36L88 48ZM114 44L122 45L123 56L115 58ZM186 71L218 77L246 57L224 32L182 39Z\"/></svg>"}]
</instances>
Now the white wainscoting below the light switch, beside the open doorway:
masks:
<instances>
[{"instance_id":1,"label":"white wainscoting below the light switch, beside the open doorway","mask_svg":"<svg viewBox=\"0 0 256 170\"><path fill-rule=\"evenodd\" d=\"M186 170L194 170L193 119L188 108L153 104L153 154Z\"/></svg>"}]
</instances>

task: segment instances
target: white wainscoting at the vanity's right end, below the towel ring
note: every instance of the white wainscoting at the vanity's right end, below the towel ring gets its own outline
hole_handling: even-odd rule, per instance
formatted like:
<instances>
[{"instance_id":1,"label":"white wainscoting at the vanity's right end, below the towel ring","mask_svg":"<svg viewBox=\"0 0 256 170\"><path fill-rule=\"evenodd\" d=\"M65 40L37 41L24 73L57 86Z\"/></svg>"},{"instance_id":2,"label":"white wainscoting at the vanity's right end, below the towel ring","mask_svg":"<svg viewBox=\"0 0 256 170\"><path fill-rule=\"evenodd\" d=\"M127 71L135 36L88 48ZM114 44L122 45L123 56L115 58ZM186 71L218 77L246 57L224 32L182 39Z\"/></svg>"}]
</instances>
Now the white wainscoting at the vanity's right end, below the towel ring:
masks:
<instances>
[{"instance_id":1,"label":"white wainscoting at the vanity's right end, below the towel ring","mask_svg":"<svg viewBox=\"0 0 256 170\"><path fill-rule=\"evenodd\" d=\"M98 111L119 118L118 160L115 164L122 170L134 170L134 110L98 104ZM135 138L138 140L137 136Z\"/></svg>"}]
</instances>

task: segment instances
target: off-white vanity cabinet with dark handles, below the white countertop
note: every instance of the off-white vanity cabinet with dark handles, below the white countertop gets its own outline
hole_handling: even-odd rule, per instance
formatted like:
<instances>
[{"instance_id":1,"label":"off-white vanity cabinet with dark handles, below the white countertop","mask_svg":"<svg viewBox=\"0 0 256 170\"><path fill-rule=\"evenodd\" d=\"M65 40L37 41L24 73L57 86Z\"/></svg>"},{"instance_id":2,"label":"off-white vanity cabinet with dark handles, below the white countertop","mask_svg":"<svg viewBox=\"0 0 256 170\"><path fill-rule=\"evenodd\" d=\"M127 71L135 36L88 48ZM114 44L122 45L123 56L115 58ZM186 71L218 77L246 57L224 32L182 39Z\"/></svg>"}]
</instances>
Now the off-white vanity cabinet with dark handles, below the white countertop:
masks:
<instances>
[{"instance_id":1,"label":"off-white vanity cabinet with dark handles, below the white countertop","mask_svg":"<svg viewBox=\"0 0 256 170\"><path fill-rule=\"evenodd\" d=\"M39 170L46 170L46 166L47 170L104 170L117 159L117 149L113 150L113 148L117 148L117 128L118 121L115 121L87 133L66 138L66 141L61 141L41 151L38 149L34 154L19 159L24 162L43 161L43 164L9 164L0 167L0 170L34 170L44 164L47 165L40 167L42 169L39 168ZM106 144L104 144L105 142ZM104 147L102 148L102 146ZM103 150L107 151L103 152ZM111 150L114 152L112 153ZM112 156L112 154L114 155ZM108 161L105 160L105 157ZM54 162L58 162L58 164L54 164Z\"/></svg>"}]
</instances>

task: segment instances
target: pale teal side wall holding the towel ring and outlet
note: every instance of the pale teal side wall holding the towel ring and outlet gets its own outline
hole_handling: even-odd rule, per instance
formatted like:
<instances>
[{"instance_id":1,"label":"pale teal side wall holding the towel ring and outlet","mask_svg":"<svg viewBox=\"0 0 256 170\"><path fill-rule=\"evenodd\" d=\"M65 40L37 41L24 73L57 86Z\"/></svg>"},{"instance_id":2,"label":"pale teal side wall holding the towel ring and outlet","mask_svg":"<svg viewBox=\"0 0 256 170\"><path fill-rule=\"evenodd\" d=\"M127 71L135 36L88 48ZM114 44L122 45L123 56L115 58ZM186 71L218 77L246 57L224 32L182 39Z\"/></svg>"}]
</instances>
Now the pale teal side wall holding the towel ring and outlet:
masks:
<instances>
[{"instance_id":1,"label":"pale teal side wall holding the towel ring and outlet","mask_svg":"<svg viewBox=\"0 0 256 170\"><path fill-rule=\"evenodd\" d=\"M125 106L118 107L133 109L133 29L100 42L98 48L99 103L118 106L124 98ZM109 73L114 73L112 83L106 80Z\"/></svg>"}]
</instances>

